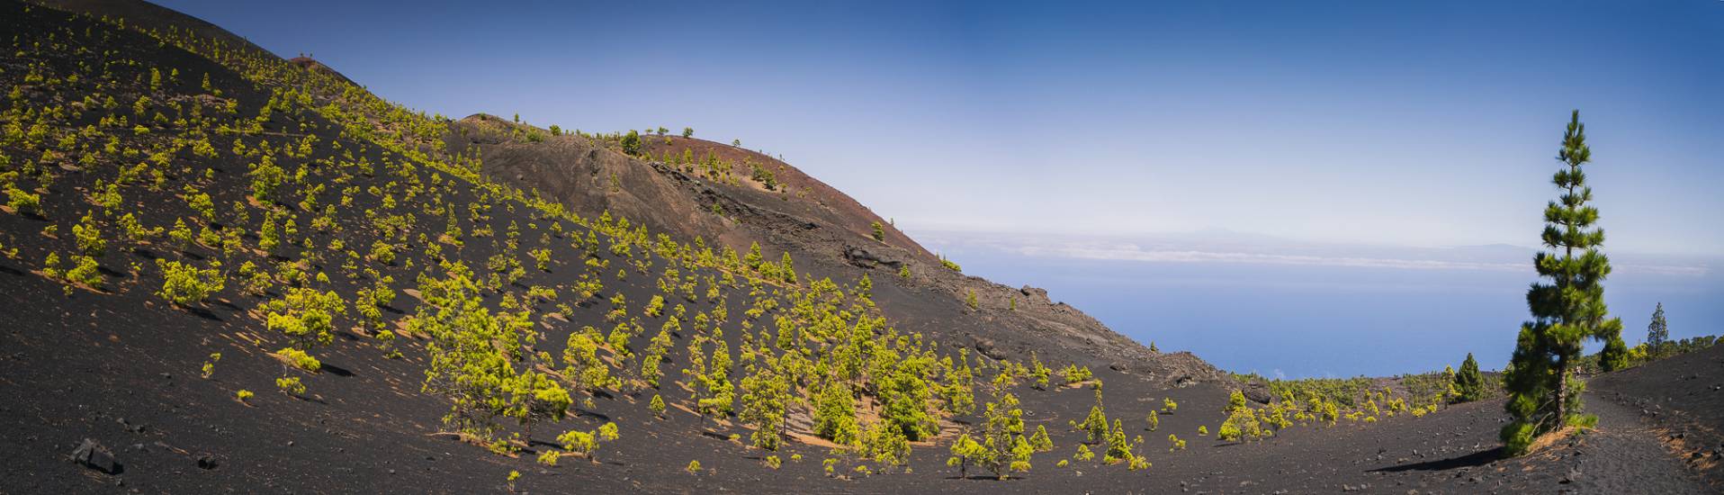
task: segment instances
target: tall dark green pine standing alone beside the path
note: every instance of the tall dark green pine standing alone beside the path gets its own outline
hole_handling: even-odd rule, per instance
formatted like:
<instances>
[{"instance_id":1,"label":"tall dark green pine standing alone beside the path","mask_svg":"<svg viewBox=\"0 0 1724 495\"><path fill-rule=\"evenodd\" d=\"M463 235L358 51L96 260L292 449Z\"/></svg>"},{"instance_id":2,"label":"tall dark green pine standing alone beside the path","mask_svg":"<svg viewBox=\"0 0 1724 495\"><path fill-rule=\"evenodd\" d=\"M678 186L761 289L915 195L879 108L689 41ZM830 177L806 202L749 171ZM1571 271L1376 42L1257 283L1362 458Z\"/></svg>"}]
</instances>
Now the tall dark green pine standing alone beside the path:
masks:
<instances>
[{"instance_id":1,"label":"tall dark green pine standing alone beside the path","mask_svg":"<svg viewBox=\"0 0 1724 495\"><path fill-rule=\"evenodd\" d=\"M1584 383L1574 374L1574 364L1588 338L1605 341L1600 362L1624 359L1622 319L1607 317L1605 309L1603 279L1610 274L1610 259L1600 252L1605 233L1595 226L1598 209L1588 205L1593 190L1581 171L1591 155L1581 112L1574 110L1557 152L1565 167L1552 178L1562 195L1545 207L1541 238L1552 252L1533 257L1545 281L1533 283L1526 293L1533 321L1521 324L1505 373L1507 409L1514 421L1503 426L1502 440L1510 455L1526 454L1538 435L1579 419Z\"/></svg>"}]
</instances>

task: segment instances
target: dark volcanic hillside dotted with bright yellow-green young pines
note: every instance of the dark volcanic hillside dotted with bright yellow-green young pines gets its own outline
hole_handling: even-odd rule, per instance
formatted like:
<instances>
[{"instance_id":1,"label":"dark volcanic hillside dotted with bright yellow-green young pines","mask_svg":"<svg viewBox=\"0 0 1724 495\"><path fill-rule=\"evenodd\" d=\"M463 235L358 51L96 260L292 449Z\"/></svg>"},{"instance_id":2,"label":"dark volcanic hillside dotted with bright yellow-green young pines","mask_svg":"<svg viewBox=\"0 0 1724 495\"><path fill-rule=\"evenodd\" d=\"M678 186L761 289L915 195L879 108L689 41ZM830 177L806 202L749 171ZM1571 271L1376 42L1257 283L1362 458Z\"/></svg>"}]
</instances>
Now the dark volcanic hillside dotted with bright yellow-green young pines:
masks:
<instances>
[{"instance_id":1,"label":"dark volcanic hillside dotted with bright yellow-green young pines","mask_svg":"<svg viewBox=\"0 0 1724 495\"><path fill-rule=\"evenodd\" d=\"M0 34L5 493L1474 492L1564 466L1474 462L1500 402L1448 407L1441 374L1143 348L736 147L426 116L141 2L0 0Z\"/></svg>"}]
</instances>

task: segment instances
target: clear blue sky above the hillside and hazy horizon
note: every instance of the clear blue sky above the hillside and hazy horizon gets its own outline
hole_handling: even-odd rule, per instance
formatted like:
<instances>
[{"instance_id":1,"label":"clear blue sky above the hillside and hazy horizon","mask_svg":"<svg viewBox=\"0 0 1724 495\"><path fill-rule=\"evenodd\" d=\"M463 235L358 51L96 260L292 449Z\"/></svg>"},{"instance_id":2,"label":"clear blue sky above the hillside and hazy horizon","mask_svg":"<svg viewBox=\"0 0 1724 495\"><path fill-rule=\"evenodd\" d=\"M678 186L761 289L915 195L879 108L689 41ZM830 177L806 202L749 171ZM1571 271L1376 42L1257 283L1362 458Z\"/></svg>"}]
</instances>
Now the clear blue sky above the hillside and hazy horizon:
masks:
<instances>
[{"instance_id":1,"label":"clear blue sky above the hillside and hazy horizon","mask_svg":"<svg viewBox=\"0 0 1724 495\"><path fill-rule=\"evenodd\" d=\"M1724 254L1724 2L169 0L384 98L691 126L900 226L1534 245L1588 122L1607 248Z\"/></svg>"}]
</instances>

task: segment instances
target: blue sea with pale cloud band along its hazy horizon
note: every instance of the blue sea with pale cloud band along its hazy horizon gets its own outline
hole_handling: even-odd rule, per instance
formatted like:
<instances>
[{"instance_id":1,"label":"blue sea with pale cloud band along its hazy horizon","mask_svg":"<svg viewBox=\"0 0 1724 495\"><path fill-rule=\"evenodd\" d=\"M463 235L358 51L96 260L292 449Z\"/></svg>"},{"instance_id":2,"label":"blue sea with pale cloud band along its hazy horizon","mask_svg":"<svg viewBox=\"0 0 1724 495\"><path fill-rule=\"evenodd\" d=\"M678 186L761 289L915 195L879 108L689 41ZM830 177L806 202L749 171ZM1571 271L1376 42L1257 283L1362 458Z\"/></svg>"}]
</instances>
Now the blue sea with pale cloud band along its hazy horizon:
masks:
<instances>
[{"instance_id":1,"label":"blue sea with pale cloud band along its hazy horizon","mask_svg":"<svg viewBox=\"0 0 1724 495\"><path fill-rule=\"evenodd\" d=\"M1053 300L1145 345L1190 350L1222 369L1272 378L1422 373L1459 367L1467 352L1481 367L1500 369L1529 317L1526 290L1536 279L1531 248L1443 254L1431 267L1359 262L1383 257L1334 255L1333 248L1290 264L1253 260L1272 247L1253 247L1245 260L1193 257L1186 247L1172 250L1183 254L1172 257L1107 259L1007 248L996 238L933 238L929 247L960 262L967 274L1046 288ZM1724 333L1724 276L1715 264L1681 262L1652 269L1619 262L1607 281L1605 300L1612 316L1622 317L1629 345L1645 340L1658 302L1672 338Z\"/></svg>"}]
</instances>

